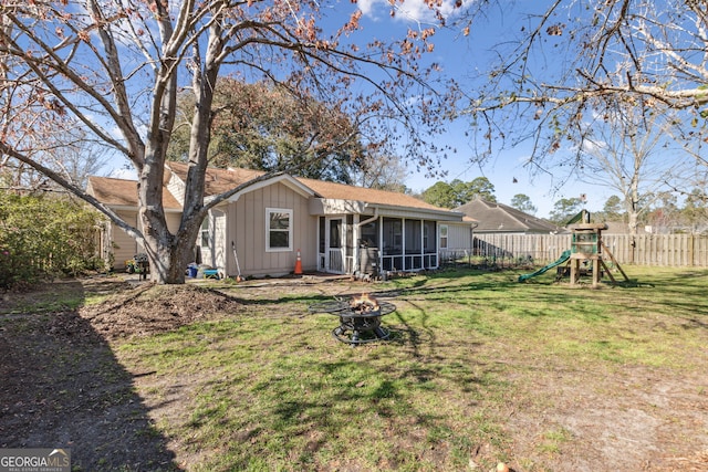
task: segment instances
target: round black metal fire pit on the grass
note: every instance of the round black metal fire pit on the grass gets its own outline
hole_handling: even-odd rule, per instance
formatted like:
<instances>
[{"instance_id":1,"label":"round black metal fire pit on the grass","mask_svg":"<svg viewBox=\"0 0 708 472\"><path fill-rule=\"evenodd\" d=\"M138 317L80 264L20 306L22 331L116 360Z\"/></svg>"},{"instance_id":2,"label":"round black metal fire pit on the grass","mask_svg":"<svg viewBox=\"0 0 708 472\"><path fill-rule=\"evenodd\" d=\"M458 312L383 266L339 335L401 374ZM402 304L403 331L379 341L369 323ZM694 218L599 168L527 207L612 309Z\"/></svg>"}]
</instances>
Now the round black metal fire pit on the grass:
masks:
<instances>
[{"instance_id":1,"label":"round black metal fire pit on the grass","mask_svg":"<svg viewBox=\"0 0 708 472\"><path fill-rule=\"evenodd\" d=\"M388 339L391 332L381 325L381 317L396 311L396 305L378 302L367 293L350 300L336 300L310 305L310 313L329 313L340 317L340 326L332 329L335 339L356 346Z\"/></svg>"}]
</instances>

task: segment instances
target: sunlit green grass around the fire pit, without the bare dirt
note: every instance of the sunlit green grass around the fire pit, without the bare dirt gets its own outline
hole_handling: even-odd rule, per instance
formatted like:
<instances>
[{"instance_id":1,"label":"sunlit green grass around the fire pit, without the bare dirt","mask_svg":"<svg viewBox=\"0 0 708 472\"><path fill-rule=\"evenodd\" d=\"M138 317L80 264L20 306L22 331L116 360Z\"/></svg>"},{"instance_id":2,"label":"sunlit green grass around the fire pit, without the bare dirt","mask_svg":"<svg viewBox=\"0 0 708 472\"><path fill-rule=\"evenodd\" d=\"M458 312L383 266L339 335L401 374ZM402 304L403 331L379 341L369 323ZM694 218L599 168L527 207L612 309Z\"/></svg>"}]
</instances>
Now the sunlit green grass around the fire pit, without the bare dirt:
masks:
<instances>
[{"instance_id":1,"label":"sunlit green grass around the fire pit, without the bare dirt","mask_svg":"<svg viewBox=\"0 0 708 472\"><path fill-rule=\"evenodd\" d=\"M533 389L544 371L705 368L708 271L625 270L638 283L591 290L458 270L367 285L395 295L384 318L393 338L356 348L330 336L336 318L306 314L316 289L259 296L116 355L155 371L138 386L148 402L180 389L181 410L158 427L197 458L189 470L468 470L480 445L489 470L509 453L510 411L551 405ZM559 427L538 441L552 455L573 436Z\"/></svg>"}]
</instances>

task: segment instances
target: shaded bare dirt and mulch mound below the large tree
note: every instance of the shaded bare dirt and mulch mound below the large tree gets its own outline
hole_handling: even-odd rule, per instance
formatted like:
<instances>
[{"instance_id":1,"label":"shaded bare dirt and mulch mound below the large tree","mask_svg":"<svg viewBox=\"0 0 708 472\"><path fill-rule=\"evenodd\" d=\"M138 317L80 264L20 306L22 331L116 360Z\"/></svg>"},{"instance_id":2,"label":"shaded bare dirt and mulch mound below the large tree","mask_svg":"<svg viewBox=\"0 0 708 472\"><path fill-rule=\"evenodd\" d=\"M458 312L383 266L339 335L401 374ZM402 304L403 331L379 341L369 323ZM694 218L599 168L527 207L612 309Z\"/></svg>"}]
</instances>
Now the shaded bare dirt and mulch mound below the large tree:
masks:
<instances>
[{"instance_id":1,"label":"shaded bare dirt and mulch mound below the large tree","mask_svg":"<svg viewBox=\"0 0 708 472\"><path fill-rule=\"evenodd\" d=\"M106 302L62 310L87 292ZM28 306L39 313L27 314ZM0 297L0 448L66 448L76 471L178 470L110 343L168 332L241 305L197 286L117 279L59 282ZM149 374L149 373L147 373ZM188 407L187 407L188 408Z\"/></svg>"}]
</instances>

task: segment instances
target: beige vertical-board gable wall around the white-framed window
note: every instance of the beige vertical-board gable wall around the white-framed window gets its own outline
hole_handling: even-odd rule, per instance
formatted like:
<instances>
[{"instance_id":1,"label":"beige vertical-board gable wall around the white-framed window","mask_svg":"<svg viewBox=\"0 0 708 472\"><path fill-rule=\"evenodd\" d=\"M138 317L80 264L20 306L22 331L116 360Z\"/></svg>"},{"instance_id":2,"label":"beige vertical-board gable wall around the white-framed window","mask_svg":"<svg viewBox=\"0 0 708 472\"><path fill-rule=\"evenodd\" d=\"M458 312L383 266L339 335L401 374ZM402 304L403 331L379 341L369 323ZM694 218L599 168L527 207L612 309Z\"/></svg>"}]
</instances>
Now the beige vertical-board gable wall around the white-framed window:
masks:
<instances>
[{"instance_id":1,"label":"beige vertical-board gable wall around the white-framed window","mask_svg":"<svg viewBox=\"0 0 708 472\"><path fill-rule=\"evenodd\" d=\"M266 209L292 210L292 251L266 251ZM225 248L231 251L236 243L242 275L284 275L295 268L298 249L301 251L302 268L316 268L316 218L310 216L308 198L291 188L274 183L242 195L229 204L227 241ZM231 251L227 256L228 275L238 273Z\"/></svg>"}]
</instances>

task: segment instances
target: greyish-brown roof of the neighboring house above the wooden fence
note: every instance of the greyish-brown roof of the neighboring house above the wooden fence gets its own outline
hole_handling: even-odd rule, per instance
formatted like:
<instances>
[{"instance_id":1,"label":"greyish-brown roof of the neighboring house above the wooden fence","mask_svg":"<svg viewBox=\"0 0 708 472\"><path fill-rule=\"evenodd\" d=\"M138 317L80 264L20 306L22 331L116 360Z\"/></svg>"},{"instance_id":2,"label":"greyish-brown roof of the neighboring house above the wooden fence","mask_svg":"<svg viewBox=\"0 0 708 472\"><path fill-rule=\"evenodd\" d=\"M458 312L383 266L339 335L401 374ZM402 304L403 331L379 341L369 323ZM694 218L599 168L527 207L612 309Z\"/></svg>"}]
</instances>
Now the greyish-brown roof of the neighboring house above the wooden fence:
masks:
<instances>
[{"instance_id":1,"label":"greyish-brown roof of the neighboring house above the wooden fence","mask_svg":"<svg viewBox=\"0 0 708 472\"><path fill-rule=\"evenodd\" d=\"M462 204L456 210L478 221L479 225L475 229L476 232L549 233L565 231L550 221L481 198Z\"/></svg>"}]
</instances>

